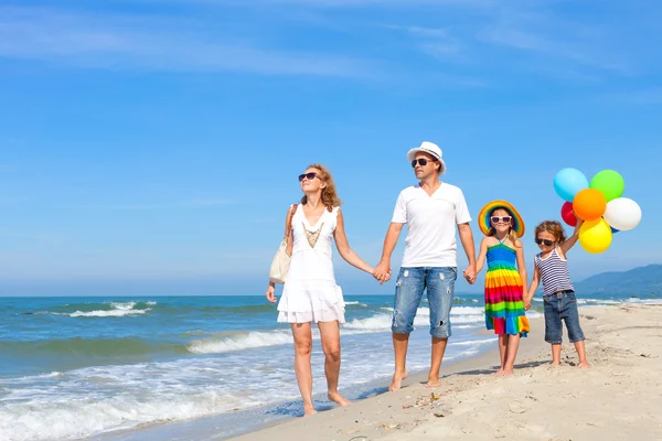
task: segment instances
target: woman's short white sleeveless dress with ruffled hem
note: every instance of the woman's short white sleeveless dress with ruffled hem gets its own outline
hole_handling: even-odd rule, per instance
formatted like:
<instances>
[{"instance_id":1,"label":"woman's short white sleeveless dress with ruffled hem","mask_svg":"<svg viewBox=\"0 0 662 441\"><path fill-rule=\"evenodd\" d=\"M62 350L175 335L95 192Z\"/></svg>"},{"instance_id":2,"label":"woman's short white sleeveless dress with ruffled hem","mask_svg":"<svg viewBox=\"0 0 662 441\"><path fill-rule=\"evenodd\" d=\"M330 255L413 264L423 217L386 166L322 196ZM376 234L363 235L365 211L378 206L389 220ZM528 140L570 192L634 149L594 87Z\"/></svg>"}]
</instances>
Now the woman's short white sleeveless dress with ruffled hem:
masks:
<instances>
[{"instance_id":1,"label":"woman's short white sleeveless dress with ruffled hem","mask_svg":"<svg viewBox=\"0 0 662 441\"><path fill-rule=\"evenodd\" d=\"M291 207L290 207L291 209ZM344 300L335 284L331 241L338 222L338 207L324 209L316 225L310 225L298 207L292 216L293 247L287 280L278 302L278 321L287 323L344 323ZM310 233L319 230L314 247L308 241Z\"/></svg>"}]
</instances>

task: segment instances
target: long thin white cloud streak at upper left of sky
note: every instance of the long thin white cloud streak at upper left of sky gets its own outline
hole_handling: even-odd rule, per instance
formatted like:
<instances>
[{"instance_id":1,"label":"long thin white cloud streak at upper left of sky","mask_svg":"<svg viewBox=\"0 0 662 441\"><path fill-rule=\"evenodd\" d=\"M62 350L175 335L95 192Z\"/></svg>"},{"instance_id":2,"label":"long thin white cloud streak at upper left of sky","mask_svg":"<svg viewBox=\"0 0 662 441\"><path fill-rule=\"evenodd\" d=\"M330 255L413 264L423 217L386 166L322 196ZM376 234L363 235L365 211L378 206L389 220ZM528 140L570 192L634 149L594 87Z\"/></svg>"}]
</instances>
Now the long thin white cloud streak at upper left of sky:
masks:
<instances>
[{"instance_id":1,"label":"long thin white cloud streak at upper left of sky","mask_svg":"<svg viewBox=\"0 0 662 441\"><path fill-rule=\"evenodd\" d=\"M0 8L0 57L88 68L370 76L364 61L259 47L202 28L188 20Z\"/></svg>"}]
</instances>

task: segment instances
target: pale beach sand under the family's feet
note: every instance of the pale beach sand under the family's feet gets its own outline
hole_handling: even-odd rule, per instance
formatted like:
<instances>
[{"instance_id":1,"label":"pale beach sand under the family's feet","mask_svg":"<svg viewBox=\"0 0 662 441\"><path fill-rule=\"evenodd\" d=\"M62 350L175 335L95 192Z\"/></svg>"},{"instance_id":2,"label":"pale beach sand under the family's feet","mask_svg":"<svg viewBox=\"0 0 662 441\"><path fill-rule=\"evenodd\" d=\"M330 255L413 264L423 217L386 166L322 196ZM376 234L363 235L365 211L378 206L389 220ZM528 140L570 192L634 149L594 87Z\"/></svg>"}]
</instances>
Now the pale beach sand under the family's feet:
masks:
<instances>
[{"instance_id":1,"label":"pale beach sand under the family's feet","mask_svg":"<svg viewBox=\"0 0 662 441\"><path fill-rule=\"evenodd\" d=\"M662 440L662 305L589 308L579 315L589 369L576 367L565 331L562 366L551 366L537 319L512 376L490 375L494 349L442 366L436 389L425 388L427 375L419 374L396 392L233 440Z\"/></svg>"}]
</instances>

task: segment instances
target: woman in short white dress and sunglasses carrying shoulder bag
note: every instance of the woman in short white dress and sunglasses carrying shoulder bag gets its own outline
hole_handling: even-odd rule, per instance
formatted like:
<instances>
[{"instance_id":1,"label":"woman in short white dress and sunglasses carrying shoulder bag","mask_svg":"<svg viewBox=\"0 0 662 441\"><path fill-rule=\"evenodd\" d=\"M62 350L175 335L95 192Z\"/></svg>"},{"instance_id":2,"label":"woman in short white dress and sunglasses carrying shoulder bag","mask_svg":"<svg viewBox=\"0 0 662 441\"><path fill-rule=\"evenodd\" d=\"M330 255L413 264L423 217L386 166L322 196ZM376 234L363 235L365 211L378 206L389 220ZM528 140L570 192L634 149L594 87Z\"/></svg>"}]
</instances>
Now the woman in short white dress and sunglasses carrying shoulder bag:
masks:
<instances>
[{"instance_id":1,"label":"woman in short white dress and sunglasses carrying shoulder bag","mask_svg":"<svg viewBox=\"0 0 662 441\"><path fill-rule=\"evenodd\" d=\"M295 337L295 373L303 398L305 416L316 413L312 405L311 323L320 330L324 352L328 396L339 406L350 404L338 391L340 373L340 323L344 323L342 290L335 284L331 261L331 238L340 256L350 265L371 273L373 267L361 260L350 248L344 232L340 200L333 178L320 164L310 165L299 175L303 197L291 218L287 235L287 251L291 262L282 297L278 303L278 321L291 324ZM290 212L286 216L289 225ZM275 286L269 283L267 299L275 303Z\"/></svg>"}]
</instances>

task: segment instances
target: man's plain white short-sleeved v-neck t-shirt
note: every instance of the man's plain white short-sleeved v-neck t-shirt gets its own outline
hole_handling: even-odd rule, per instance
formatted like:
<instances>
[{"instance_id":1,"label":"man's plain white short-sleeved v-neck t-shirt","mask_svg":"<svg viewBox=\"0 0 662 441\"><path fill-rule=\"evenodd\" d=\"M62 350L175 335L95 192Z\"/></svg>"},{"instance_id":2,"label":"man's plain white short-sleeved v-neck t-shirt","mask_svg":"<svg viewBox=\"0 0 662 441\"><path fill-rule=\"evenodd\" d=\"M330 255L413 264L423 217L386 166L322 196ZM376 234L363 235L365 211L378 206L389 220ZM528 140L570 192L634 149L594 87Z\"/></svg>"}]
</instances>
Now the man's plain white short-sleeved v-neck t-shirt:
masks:
<instances>
[{"instance_id":1,"label":"man's plain white short-sleeved v-neck t-shirt","mask_svg":"<svg viewBox=\"0 0 662 441\"><path fill-rule=\"evenodd\" d=\"M409 229L403 267L457 267L456 228L471 216L462 191L444 182L431 196L420 185L403 190L391 222Z\"/></svg>"}]
</instances>

